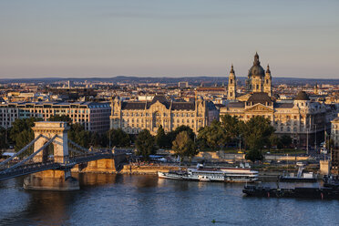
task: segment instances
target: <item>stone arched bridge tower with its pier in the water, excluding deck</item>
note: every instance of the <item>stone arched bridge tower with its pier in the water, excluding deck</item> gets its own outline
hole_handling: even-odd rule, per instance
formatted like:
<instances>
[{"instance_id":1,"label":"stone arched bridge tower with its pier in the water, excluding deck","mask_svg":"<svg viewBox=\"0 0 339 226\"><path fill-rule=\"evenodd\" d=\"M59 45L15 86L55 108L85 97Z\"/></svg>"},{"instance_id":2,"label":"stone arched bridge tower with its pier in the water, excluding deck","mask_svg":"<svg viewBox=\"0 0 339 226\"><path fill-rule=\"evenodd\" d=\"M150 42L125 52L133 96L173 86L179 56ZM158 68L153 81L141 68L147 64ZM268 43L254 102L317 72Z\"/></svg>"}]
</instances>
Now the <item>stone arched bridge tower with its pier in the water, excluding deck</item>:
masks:
<instances>
[{"instance_id":1,"label":"stone arched bridge tower with its pier in the water, excluding deck","mask_svg":"<svg viewBox=\"0 0 339 226\"><path fill-rule=\"evenodd\" d=\"M54 162L67 163L68 159L68 138L66 122L39 121L34 128L36 142L34 151L44 148L46 143L54 147ZM33 158L34 162L45 163L48 160L47 147L39 151ZM70 169L45 170L30 174L24 180L26 190L79 190L78 180L71 176Z\"/></svg>"}]
</instances>

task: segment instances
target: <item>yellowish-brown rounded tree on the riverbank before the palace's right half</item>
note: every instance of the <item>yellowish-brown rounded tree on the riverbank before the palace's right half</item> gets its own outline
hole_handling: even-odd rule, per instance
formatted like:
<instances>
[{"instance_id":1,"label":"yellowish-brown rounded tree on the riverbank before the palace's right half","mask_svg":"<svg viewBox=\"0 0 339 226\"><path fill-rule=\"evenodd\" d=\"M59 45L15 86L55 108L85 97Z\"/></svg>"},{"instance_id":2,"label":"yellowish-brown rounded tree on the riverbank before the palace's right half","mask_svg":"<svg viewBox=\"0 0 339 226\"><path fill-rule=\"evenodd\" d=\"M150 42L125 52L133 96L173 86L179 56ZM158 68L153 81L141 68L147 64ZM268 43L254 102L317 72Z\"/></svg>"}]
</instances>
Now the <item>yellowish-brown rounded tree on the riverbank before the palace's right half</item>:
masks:
<instances>
[{"instance_id":1,"label":"yellowish-brown rounded tree on the riverbank before the palace's right half","mask_svg":"<svg viewBox=\"0 0 339 226\"><path fill-rule=\"evenodd\" d=\"M181 159L185 156L191 159L199 153L187 131L181 131L178 134L177 138L173 141L173 149Z\"/></svg>"}]
</instances>

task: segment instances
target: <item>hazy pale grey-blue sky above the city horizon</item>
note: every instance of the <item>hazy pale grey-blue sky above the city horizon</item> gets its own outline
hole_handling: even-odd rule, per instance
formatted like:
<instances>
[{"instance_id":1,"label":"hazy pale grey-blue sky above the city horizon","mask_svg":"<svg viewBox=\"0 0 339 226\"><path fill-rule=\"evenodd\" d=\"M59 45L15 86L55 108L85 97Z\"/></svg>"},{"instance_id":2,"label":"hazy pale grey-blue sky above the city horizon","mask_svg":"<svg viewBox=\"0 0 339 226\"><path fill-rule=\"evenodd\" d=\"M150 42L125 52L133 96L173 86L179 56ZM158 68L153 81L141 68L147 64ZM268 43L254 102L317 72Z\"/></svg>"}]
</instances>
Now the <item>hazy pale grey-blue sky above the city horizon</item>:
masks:
<instances>
[{"instance_id":1,"label":"hazy pale grey-blue sky above the city horizon","mask_svg":"<svg viewBox=\"0 0 339 226\"><path fill-rule=\"evenodd\" d=\"M339 1L1 0L0 77L339 78Z\"/></svg>"}]
</instances>

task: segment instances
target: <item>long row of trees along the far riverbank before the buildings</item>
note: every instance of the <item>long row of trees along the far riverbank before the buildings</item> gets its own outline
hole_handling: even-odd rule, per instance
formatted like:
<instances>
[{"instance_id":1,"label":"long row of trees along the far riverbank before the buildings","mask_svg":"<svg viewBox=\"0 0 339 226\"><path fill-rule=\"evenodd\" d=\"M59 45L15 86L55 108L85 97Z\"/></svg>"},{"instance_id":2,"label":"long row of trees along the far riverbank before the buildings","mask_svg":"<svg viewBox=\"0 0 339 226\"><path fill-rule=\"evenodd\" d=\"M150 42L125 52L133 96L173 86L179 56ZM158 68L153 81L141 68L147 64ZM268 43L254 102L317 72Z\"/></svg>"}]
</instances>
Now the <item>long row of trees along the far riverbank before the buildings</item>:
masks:
<instances>
[{"instance_id":1,"label":"long row of trees along the far riverbank before the buildings","mask_svg":"<svg viewBox=\"0 0 339 226\"><path fill-rule=\"evenodd\" d=\"M9 144L15 146L18 151L34 139L32 127L34 122L40 118L16 119L12 128L5 130L0 128L0 148L8 148ZM143 129L138 135L128 135L121 128L111 128L104 134L91 132L79 124L71 123L67 116L53 116L50 121L67 121L70 129L68 139L75 141L82 147L132 147L137 148L137 155L148 160L149 155L156 153L157 149L173 149L183 159L191 159L204 149L222 149L241 144L248 149L246 158L252 161L262 159L262 149L270 149L277 146L278 149L291 145L292 139L289 136L279 138L274 134L274 128L268 118L253 117L244 122L237 117L230 115L221 116L220 121L213 121L210 126L200 128L198 135L187 126L180 126L173 131L166 133L159 126L156 136L152 136L148 129ZM33 151L31 148L30 151Z\"/></svg>"}]
</instances>

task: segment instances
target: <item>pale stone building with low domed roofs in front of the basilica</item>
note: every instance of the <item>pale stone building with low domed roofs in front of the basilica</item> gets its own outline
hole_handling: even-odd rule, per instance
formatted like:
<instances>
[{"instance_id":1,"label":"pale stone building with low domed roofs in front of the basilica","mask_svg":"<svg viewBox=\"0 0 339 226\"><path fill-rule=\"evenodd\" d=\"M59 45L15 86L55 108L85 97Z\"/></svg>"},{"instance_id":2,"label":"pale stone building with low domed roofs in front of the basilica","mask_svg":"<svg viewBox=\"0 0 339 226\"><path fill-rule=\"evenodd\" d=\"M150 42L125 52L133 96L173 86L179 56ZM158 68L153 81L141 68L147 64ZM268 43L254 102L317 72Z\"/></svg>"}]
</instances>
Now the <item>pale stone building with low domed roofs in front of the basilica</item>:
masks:
<instances>
[{"instance_id":1,"label":"pale stone building with low domed roofs in front of the basilica","mask_svg":"<svg viewBox=\"0 0 339 226\"><path fill-rule=\"evenodd\" d=\"M254 116L270 118L275 133L291 136L297 146L307 143L313 146L324 139L326 108L324 104L311 102L303 91L290 103L273 102L265 92L253 93L247 101L230 102L221 108L221 115L224 114L244 121Z\"/></svg>"}]
</instances>

